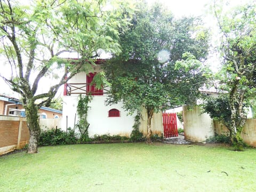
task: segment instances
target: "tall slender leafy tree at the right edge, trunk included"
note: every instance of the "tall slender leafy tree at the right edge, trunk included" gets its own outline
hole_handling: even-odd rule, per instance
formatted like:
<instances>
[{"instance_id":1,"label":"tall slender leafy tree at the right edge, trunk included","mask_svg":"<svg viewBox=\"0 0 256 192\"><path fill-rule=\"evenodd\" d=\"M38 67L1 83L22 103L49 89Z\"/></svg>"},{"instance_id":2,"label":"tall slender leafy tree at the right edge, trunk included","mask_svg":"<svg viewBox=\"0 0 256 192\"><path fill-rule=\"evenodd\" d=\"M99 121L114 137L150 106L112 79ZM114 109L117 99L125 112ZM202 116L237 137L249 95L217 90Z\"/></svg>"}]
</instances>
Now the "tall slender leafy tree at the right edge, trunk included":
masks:
<instances>
[{"instance_id":1,"label":"tall slender leafy tree at the right edge, trunk included","mask_svg":"<svg viewBox=\"0 0 256 192\"><path fill-rule=\"evenodd\" d=\"M227 117L217 117L229 129L230 140L236 150L243 148L240 134L246 121L244 107L254 97L256 88L255 10L255 4L235 7L228 12L223 12L222 6L216 1L213 6L214 15L222 34L220 51L223 61L218 77L221 89L225 92L222 96L224 99L220 99L219 102L228 103L228 106L221 105L216 108L216 110L222 110ZM208 112L210 114L216 112L212 110Z\"/></svg>"}]
</instances>

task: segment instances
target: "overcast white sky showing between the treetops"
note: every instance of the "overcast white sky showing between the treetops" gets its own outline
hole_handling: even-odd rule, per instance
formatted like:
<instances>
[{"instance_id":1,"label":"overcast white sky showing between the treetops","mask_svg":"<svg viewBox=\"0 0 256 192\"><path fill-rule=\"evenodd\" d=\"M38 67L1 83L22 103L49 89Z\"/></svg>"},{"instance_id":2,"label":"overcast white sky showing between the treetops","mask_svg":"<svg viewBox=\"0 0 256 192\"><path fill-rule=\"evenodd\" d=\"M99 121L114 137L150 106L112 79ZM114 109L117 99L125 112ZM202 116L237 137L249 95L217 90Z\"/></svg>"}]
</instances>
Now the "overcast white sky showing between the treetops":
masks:
<instances>
[{"instance_id":1,"label":"overcast white sky showing between the treetops","mask_svg":"<svg viewBox=\"0 0 256 192\"><path fill-rule=\"evenodd\" d=\"M207 8L207 5L209 5L209 3L213 2L213 0L147 0L147 2L149 4L153 4L154 2L160 2L162 4L164 4L164 6L169 9L173 14L174 17L182 17L183 15L186 16L190 16L190 15L194 15L194 16L199 16L199 15L204 15L204 21L205 21L205 25L207 27L213 27L213 19L212 17L208 14L209 10ZM245 2L248 2L250 0L230 0L230 5L229 6L233 6L233 5L237 5L237 4L242 4ZM254 1L254 0L252 0ZM209 60L209 62L218 62L217 59L218 55L213 54L211 55L211 60ZM214 67L213 67L214 68ZM1 66L1 70L3 69L3 66ZM18 94L12 92L9 88L8 85L6 85L6 83L3 81L2 78L0 78L0 85L1 85L1 91L0 94L9 94L13 97L18 97ZM39 90L42 89L43 87L39 87Z\"/></svg>"}]
</instances>

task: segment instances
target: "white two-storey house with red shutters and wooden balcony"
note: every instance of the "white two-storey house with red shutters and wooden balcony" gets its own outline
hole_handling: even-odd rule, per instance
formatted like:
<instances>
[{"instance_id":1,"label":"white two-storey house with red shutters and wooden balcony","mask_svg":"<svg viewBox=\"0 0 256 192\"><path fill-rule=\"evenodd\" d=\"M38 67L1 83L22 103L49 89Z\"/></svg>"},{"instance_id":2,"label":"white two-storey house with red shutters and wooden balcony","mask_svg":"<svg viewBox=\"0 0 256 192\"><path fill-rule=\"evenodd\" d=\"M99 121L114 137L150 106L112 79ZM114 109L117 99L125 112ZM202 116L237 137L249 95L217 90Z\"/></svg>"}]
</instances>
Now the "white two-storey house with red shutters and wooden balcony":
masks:
<instances>
[{"instance_id":1,"label":"white two-storey house with red shutters and wooden balcony","mask_svg":"<svg viewBox=\"0 0 256 192\"><path fill-rule=\"evenodd\" d=\"M101 71L100 66L104 65L103 60L98 60L96 66L93 66L93 71L86 75L86 73L78 73L65 84L63 97L63 118L62 129L66 130L68 127L74 129L78 121L77 117L77 103L79 94L91 94L93 99L89 103L89 111L87 121L89 125L89 137L93 135L126 135L130 136L133 130L134 116L129 115L127 111L122 108L122 103L107 106L105 101L108 97L109 87L104 87L102 90L97 90L94 85L91 85L93 77L96 73ZM145 112L146 113L146 112ZM140 131L146 133L146 116L142 114ZM155 115L151 123L153 125L153 134L163 133L162 114Z\"/></svg>"}]
</instances>

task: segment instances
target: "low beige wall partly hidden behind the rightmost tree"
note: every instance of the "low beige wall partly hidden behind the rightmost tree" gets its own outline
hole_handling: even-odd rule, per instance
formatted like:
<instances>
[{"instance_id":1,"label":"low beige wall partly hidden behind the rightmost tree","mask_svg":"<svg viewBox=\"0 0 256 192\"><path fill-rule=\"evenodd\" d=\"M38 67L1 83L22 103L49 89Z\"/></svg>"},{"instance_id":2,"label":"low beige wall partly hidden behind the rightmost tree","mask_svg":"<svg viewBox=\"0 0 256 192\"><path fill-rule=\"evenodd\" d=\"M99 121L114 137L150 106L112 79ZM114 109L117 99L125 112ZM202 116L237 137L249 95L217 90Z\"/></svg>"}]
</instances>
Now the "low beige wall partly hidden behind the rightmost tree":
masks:
<instances>
[{"instance_id":1,"label":"low beige wall partly hidden behind the rightmost tree","mask_svg":"<svg viewBox=\"0 0 256 192\"><path fill-rule=\"evenodd\" d=\"M229 131L221 122L214 121L214 130L216 134L227 134ZM241 137L247 145L256 147L256 119L246 119Z\"/></svg>"}]
</instances>

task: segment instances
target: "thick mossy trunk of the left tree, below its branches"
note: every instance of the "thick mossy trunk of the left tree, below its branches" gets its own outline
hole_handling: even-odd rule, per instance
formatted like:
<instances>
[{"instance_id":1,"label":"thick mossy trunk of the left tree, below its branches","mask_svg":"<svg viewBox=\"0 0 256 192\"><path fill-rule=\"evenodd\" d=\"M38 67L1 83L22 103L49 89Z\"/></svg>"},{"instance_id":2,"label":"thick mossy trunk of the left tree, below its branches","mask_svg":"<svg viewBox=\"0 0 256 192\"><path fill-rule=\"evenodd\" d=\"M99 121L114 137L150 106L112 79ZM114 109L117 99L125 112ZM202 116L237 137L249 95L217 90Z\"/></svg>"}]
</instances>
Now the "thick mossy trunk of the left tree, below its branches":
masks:
<instances>
[{"instance_id":1,"label":"thick mossy trunk of the left tree, below its branches","mask_svg":"<svg viewBox=\"0 0 256 192\"><path fill-rule=\"evenodd\" d=\"M37 153L37 144L38 144L38 139L40 134L40 126L38 123L38 115L37 115L38 109L34 104L34 101L30 101L25 106L25 110L26 110L26 118L27 118L29 134L30 134L27 153L29 154Z\"/></svg>"}]
</instances>

